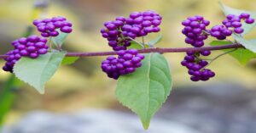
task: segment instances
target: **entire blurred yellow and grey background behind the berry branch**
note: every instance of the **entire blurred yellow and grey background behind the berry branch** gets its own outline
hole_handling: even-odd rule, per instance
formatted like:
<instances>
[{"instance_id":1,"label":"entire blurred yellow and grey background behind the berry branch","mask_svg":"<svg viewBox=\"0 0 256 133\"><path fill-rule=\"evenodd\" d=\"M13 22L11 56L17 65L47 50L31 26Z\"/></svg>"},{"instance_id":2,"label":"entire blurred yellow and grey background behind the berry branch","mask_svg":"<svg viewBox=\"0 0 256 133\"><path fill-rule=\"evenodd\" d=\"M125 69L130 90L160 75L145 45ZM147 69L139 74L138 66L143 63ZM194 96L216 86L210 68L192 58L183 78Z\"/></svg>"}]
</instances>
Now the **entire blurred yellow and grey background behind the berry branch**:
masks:
<instances>
[{"instance_id":1,"label":"entire blurred yellow and grey background behind the berry branch","mask_svg":"<svg viewBox=\"0 0 256 133\"><path fill-rule=\"evenodd\" d=\"M32 25L36 5L44 1L0 0L0 53L8 52L10 42ZM155 10L163 16L158 47L189 47L181 34L183 19L201 14L217 25L224 14L218 0L52 0L40 17L65 16L73 22L73 33L64 49L69 52L110 51L99 30L105 21L128 16L133 11ZM256 10L254 0L222 0L233 8ZM41 4L41 5L40 5ZM38 11L39 12L39 11ZM37 14L38 14L37 12ZM38 34L36 31L33 34ZM148 36L146 41L159 36ZM248 34L255 38L256 30ZM211 42L211 39L207 42ZM221 51L212 53L215 57ZM184 53L166 53L172 69L172 94L156 114L148 131L139 119L122 107L114 96L116 81L102 73L104 57L80 58L75 64L61 66L40 95L31 86L12 88L10 109L4 116L4 133L88 132L119 133L252 133L256 127L256 61L241 66L226 55L210 69L216 77L207 82L192 82L181 67ZM3 66L3 60L0 65ZM11 75L0 71L0 94ZM2 89L1 89L2 88ZM0 95L2 96L2 95ZM3 96L2 96L3 97ZM0 97L1 99L1 97ZM7 105L8 104L8 105ZM1 106L2 106L1 105ZM3 112L0 111L0 115Z\"/></svg>"}]
</instances>

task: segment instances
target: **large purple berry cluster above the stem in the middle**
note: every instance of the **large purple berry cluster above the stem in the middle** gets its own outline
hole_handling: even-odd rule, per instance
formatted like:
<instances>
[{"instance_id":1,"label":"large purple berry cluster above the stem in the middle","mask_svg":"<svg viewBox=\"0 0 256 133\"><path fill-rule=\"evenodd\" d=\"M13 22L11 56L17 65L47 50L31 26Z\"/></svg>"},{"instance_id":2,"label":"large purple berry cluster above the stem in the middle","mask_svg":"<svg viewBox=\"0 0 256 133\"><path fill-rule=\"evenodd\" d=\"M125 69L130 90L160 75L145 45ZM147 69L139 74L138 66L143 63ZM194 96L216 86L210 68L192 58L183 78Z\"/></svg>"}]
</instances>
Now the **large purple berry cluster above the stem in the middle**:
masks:
<instances>
[{"instance_id":1,"label":"large purple berry cluster above the stem in the middle","mask_svg":"<svg viewBox=\"0 0 256 133\"><path fill-rule=\"evenodd\" d=\"M114 51L125 50L131 45L131 39L159 32L161 19L160 14L154 11L133 12L129 18L117 17L104 23L102 36L108 39L108 45Z\"/></svg>"}]
</instances>

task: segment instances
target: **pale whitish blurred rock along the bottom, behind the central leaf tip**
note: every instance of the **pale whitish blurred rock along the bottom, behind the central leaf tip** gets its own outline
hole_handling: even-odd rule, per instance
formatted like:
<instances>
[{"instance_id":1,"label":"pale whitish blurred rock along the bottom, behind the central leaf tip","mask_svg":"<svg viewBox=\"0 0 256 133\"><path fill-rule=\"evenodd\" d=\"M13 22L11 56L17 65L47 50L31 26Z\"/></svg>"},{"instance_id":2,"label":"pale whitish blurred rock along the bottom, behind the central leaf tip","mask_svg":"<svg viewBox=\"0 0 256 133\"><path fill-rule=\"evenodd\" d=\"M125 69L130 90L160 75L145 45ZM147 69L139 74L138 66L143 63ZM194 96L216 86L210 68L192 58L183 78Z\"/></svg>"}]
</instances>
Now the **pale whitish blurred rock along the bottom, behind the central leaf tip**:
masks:
<instances>
[{"instance_id":1,"label":"pale whitish blurred rock along the bottom, behind the central leaf tip","mask_svg":"<svg viewBox=\"0 0 256 133\"><path fill-rule=\"evenodd\" d=\"M36 111L17 125L3 128L3 133L199 133L177 122L155 119L149 130L135 115L110 110L90 110L77 114L51 114Z\"/></svg>"}]
</instances>

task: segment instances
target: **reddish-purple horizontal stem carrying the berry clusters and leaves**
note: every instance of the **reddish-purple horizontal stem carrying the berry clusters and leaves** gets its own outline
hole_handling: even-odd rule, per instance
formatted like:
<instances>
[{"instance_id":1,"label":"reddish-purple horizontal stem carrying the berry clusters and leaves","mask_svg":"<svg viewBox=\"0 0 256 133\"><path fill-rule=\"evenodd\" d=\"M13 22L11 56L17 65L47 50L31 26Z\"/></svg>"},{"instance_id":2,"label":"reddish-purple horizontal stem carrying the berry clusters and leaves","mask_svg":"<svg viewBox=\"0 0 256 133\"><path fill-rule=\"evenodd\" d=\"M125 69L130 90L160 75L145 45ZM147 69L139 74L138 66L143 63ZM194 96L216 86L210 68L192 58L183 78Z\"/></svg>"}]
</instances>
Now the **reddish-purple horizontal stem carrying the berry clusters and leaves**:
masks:
<instances>
[{"instance_id":1,"label":"reddish-purple horizontal stem carrying the berry clusters and leaves","mask_svg":"<svg viewBox=\"0 0 256 133\"><path fill-rule=\"evenodd\" d=\"M241 44L228 44L223 46L213 47L176 47L176 48L146 48L138 50L139 53L186 53L186 52L201 52L205 50L223 50L230 48L244 48ZM67 53L67 57L97 57L97 56L108 56L116 55L116 52L96 52L96 53ZM0 55L0 58L6 58L7 55Z\"/></svg>"}]
</instances>

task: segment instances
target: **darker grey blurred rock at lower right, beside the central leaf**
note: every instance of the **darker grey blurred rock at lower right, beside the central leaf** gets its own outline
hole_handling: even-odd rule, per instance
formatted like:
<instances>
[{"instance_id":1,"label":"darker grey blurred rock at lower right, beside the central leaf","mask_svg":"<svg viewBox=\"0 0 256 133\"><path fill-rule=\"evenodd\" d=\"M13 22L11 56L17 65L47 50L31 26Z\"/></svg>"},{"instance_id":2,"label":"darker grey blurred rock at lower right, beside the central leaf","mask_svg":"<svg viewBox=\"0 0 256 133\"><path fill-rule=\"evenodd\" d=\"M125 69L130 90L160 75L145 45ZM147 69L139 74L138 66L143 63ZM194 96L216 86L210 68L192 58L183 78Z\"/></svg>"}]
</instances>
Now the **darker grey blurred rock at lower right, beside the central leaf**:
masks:
<instances>
[{"instance_id":1,"label":"darker grey blurred rock at lower right, beside the central leaf","mask_svg":"<svg viewBox=\"0 0 256 133\"><path fill-rule=\"evenodd\" d=\"M252 133L256 130L256 91L236 84L178 88L157 117L201 133Z\"/></svg>"}]
</instances>

